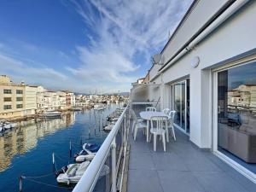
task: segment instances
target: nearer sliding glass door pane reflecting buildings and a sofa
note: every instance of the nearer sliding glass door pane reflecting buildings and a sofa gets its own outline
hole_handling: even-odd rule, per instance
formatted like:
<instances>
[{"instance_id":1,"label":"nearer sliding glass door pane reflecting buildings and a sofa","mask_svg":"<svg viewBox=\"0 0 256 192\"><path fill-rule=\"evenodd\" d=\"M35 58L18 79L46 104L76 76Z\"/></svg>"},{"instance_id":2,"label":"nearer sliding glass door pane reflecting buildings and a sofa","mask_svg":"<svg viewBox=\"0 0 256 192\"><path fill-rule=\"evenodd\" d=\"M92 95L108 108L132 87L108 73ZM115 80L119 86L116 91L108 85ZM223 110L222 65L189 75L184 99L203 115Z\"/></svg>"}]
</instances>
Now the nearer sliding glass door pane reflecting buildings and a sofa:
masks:
<instances>
[{"instance_id":1,"label":"nearer sliding glass door pane reflecting buildings and a sofa","mask_svg":"<svg viewBox=\"0 0 256 192\"><path fill-rule=\"evenodd\" d=\"M217 77L218 152L256 174L256 61Z\"/></svg>"}]
</instances>

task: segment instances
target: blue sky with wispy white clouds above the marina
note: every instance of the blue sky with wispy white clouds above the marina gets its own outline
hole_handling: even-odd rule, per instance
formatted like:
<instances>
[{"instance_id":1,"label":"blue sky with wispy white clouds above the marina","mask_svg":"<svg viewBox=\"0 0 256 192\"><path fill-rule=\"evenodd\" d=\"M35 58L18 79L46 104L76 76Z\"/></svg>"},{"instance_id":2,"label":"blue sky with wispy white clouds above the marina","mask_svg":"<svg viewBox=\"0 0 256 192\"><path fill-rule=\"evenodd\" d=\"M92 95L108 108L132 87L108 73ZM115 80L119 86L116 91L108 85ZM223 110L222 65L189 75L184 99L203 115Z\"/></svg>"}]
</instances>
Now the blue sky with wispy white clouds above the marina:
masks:
<instances>
[{"instance_id":1,"label":"blue sky with wispy white clouds above the marina","mask_svg":"<svg viewBox=\"0 0 256 192\"><path fill-rule=\"evenodd\" d=\"M192 0L3 0L0 74L79 93L129 91Z\"/></svg>"}]
</instances>

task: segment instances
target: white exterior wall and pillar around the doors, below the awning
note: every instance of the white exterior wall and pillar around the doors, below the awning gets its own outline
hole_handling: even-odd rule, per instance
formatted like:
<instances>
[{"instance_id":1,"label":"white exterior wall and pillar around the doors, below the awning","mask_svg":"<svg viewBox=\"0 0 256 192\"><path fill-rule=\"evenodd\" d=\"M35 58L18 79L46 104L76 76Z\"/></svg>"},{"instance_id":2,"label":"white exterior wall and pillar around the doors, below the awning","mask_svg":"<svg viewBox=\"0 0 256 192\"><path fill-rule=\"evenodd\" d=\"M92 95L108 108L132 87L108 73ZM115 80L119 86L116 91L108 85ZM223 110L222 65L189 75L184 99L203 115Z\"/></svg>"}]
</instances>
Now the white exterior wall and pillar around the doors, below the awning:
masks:
<instances>
[{"instance_id":1,"label":"white exterior wall and pillar around the doors, below the awning","mask_svg":"<svg viewBox=\"0 0 256 192\"><path fill-rule=\"evenodd\" d=\"M212 145L212 79L211 71L206 68L216 67L215 64L220 61L255 48L255 18L256 2L250 2L162 74L163 103L170 100L167 84L189 76L190 140L201 148L211 148ZM168 46L173 46L172 42ZM168 51L171 51L171 48L165 49L164 54L169 55ZM198 67L193 68L190 63L195 56L199 56L201 62ZM150 77L154 77L153 72ZM160 83L160 79L161 76L153 81ZM169 93L166 94L166 90Z\"/></svg>"}]
</instances>

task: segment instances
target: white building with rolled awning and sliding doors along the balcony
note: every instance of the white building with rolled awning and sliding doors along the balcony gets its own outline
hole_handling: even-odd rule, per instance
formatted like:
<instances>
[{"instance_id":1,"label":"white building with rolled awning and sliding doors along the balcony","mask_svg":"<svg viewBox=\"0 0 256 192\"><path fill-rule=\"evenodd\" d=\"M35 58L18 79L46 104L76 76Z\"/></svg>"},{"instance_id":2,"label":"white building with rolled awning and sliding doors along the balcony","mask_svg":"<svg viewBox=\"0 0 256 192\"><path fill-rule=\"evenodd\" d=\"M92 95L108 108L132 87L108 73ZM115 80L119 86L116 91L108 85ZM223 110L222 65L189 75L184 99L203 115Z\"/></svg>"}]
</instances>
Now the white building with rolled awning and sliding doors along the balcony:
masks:
<instances>
[{"instance_id":1,"label":"white building with rolled awning and sliding doors along the balcony","mask_svg":"<svg viewBox=\"0 0 256 192\"><path fill-rule=\"evenodd\" d=\"M159 110L175 110L176 128L197 148L212 151L254 183L255 16L255 1L195 0L154 55L148 88L137 82L131 89L131 101L160 99Z\"/></svg>"}]
</instances>

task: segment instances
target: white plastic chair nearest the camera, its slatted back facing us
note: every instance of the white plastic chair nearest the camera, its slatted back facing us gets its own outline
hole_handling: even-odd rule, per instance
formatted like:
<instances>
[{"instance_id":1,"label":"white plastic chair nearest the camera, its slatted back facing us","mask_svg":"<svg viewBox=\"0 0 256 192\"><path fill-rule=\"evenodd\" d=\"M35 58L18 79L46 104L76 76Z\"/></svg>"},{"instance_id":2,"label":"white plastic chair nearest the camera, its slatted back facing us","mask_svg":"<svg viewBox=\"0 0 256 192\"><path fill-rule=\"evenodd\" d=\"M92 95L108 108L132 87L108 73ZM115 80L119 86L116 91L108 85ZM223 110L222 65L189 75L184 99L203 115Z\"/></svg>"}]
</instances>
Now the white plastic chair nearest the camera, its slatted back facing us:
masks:
<instances>
[{"instance_id":1,"label":"white plastic chair nearest the camera, its slatted back facing us","mask_svg":"<svg viewBox=\"0 0 256 192\"><path fill-rule=\"evenodd\" d=\"M156 151L156 139L157 136L160 136L163 142L164 151L166 152L166 129L165 126L167 125L167 117L163 116L154 116L150 119L150 137L149 141L151 140L151 135L154 136L154 151Z\"/></svg>"}]
</instances>

